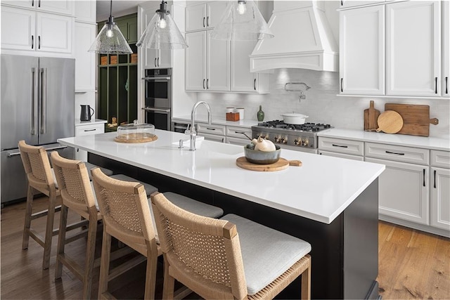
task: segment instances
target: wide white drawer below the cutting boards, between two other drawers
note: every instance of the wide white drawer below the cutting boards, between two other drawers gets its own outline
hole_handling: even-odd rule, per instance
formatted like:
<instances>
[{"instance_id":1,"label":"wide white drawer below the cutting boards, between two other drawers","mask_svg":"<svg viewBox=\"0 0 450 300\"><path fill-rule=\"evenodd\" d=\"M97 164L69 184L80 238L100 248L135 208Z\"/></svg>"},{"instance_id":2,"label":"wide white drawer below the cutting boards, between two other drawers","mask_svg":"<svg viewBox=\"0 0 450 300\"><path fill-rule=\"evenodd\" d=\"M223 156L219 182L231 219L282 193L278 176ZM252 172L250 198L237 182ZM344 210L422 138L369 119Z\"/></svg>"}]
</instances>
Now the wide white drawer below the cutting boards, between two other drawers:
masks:
<instances>
[{"instance_id":1,"label":"wide white drawer below the cutting boards, between two other drawers","mask_svg":"<svg viewBox=\"0 0 450 300\"><path fill-rule=\"evenodd\" d=\"M410 162L412 164L430 164L430 150L403 146L366 143L366 157Z\"/></svg>"}]
</instances>

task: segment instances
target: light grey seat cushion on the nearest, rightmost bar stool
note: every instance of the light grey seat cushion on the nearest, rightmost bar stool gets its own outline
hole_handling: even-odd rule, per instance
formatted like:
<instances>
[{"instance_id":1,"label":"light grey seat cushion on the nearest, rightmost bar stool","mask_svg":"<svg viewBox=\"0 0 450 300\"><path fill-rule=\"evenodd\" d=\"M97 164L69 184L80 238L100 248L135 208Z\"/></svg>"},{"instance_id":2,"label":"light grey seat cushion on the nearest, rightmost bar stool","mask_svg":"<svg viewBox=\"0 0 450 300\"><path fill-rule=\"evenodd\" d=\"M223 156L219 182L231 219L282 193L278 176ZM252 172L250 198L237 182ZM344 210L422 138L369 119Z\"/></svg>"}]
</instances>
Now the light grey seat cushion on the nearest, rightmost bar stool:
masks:
<instances>
[{"instance_id":1,"label":"light grey seat cushion on the nearest, rightmost bar stool","mask_svg":"<svg viewBox=\"0 0 450 300\"><path fill-rule=\"evenodd\" d=\"M311 251L311 244L235 214L221 218L236 224L249 295L285 273Z\"/></svg>"}]
</instances>

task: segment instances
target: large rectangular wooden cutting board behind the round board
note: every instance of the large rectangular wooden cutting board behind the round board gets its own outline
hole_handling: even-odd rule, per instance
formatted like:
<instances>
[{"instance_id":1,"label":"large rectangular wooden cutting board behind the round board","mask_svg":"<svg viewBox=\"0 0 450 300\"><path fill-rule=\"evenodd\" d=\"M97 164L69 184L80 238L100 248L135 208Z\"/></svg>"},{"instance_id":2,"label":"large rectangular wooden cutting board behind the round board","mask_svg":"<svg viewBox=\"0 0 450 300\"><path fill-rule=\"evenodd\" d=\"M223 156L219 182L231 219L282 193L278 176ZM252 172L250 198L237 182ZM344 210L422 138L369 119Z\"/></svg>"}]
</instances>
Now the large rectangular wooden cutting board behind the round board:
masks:
<instances>
[{"instance_id":1,"label":"large rectangular wooden cutting board behind the round board","mask_svg":"<svg viewBox=\"0 0 450 300\"><path fill-rule=\"evenodd\" d=\"M398 112L403 118L403 127L397 132L400 134L430 136L430 124L439 124L438 119L430 119L429 105L385 103L385 110Z\"/></svg>"}]
</instances>

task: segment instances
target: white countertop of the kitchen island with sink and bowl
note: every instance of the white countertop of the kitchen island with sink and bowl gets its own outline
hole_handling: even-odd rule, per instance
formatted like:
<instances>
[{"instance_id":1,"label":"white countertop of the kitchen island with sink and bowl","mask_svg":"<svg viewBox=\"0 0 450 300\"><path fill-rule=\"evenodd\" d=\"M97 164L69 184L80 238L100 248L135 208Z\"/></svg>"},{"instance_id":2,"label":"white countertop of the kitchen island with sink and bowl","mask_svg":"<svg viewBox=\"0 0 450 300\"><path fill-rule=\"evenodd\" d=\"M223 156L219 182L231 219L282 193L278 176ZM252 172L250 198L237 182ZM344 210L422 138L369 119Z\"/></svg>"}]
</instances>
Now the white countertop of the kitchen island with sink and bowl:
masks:
<instances>
[{"instance_id":1,"label":"white countertop of the kitchen island with sink and bowl","mask_svg":"<svg viewBox=\"0 0 450 300\"><path fill-rule=\"evenodd\" d=\"M281 157L300 159L302 167L250 171L236 166L242 146L198 141L198 149L189 151L188 141L178 148L180 138L186 139L183 133L156 129L155 134L158 140L150 143L116 143L116 133L58 142L322 223L331 223L385 169L383 164L283 150Z\"/></svg>"}]
</instances>

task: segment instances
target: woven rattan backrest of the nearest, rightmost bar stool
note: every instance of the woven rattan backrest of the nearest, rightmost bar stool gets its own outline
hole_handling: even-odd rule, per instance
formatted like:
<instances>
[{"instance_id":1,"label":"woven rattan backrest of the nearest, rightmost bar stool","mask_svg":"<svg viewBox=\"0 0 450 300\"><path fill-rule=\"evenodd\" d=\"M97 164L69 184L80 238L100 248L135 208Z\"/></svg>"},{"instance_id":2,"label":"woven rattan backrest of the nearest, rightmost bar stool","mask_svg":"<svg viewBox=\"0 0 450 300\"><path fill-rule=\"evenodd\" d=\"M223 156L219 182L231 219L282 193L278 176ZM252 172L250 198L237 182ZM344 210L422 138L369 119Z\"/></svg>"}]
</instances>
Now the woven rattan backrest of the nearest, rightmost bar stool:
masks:
<instances>
[{"instance_id":1,"label":"woven rattan backrest of the nearest, rightmost bar stool","mask_svg":"<svg viewBox=\"0 0 450 300\"><path fill-rule=\"evenodd\" d=\"M174 278L187 280L196 287L194 292L207 299L247 296L236 225L191 214L162 193L152 195L152 205L160 247L176 273ZM188 269L193 272L185 272ZM193 274L200 274L201 280L195 282Z\"/></svg>"}]
</instances>

